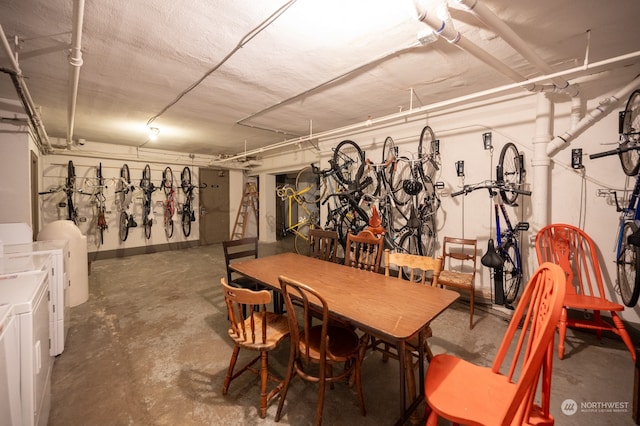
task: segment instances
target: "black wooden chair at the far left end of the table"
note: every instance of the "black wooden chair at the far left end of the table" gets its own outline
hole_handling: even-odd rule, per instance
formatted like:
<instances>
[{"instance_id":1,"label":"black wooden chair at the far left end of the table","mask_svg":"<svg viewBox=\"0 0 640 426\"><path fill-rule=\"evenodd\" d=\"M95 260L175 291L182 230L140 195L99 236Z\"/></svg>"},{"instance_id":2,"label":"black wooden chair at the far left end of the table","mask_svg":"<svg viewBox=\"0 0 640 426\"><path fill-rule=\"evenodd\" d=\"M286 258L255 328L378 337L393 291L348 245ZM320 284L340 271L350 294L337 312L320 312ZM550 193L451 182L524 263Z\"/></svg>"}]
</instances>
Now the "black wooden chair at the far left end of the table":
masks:
<instances>
[{"instance_id":1,"label":"black wooden chair at the far left end of the table","mask_svg":"<svg viewBox=\"0 0 640 426\"><path fill-rule=\"evenodd\" d=\"M224 262L227 269L227 283L232 287L250 290L265 290L266 287L231 269L233 262L258 258L258 237L246 237L239 240L222 242ZM274 312L282 313L282 299L278 292L273 292Z\"/></svg>"}]
</instances>

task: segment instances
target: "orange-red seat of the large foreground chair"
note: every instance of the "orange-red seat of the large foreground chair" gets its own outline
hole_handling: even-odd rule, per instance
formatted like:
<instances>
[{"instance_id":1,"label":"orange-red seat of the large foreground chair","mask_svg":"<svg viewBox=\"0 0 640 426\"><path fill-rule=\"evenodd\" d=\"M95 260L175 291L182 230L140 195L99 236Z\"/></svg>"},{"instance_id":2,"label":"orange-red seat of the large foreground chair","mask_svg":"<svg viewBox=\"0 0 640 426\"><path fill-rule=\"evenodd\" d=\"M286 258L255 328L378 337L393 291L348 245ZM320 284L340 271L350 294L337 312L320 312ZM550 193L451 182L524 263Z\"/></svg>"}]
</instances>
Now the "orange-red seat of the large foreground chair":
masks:
<instances>
[{"instance_id":1,"label":"orange-red seat of the large foreground chair","mask_svg":"<svg viewBox=\"0 0 640 426\"><path fill-rule=\"evenodd\" d=\"M460 389L465 392L461 394ZM448 354L433 357L425 381L429 406L438 415L466 425L495 423L504 416L515 392L516 385L505 376Z\"/></svg>"}]
</instances>

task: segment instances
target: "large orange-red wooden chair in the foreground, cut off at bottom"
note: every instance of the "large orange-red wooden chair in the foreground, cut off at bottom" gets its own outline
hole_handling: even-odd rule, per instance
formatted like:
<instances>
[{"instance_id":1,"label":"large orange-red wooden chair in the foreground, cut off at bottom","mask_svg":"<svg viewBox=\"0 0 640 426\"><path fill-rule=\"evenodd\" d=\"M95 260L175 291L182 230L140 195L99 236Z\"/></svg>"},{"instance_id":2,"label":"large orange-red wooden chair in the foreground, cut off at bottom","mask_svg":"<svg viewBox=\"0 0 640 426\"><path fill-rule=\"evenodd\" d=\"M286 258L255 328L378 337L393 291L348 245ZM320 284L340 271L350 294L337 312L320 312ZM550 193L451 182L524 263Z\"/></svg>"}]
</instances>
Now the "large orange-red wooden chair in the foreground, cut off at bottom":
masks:
<instances>
[{"instance_id":1,"label":"large orange-red wooden chair in the foreground, cut off at bottom","mask_svg":"<svg viewBox=\"0 0 640 426\"><path fill-rule=\"evenodd\" d=\"M543 263L525 287L491 367L434 356L424 384L427 425L436 426L438 417L473 425L533 423L539 411L535 388L553 347L565 292L562 268Z\"/></svg>"}]
</instances>

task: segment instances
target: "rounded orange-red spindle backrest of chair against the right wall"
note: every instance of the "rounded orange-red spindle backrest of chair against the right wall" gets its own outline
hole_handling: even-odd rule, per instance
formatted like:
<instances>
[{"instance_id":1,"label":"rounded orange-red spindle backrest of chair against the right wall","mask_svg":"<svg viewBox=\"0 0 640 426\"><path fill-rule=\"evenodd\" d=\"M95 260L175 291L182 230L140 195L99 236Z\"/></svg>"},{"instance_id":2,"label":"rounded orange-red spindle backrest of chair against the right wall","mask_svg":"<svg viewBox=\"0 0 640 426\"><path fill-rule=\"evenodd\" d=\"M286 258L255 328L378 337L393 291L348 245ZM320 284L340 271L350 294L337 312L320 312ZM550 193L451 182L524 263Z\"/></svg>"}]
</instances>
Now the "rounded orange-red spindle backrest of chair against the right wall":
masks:
<instances>
[{"instance_id":1,"label":"rounded orange-red spindle backrest of chair against the right wall","mask_svg":"<svg viewBox=\"0 0 640 426\"><path fill-rule=\"evenodd\" d=\"M538 263L560 265L567 278L567 293L605 299L598 252L580 228L552 224L536 234Z\"/></svg>"}]
</instances>

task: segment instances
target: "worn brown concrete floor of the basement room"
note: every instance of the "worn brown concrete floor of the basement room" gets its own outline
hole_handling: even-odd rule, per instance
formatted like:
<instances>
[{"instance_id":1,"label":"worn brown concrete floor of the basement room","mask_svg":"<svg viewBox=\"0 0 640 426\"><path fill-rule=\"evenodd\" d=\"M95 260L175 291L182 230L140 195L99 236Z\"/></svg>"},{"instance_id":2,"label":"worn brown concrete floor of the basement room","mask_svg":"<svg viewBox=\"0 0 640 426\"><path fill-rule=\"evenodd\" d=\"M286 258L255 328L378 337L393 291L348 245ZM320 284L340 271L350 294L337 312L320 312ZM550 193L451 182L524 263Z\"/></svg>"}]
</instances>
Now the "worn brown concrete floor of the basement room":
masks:
<instances>
[{"instance_id":1,"label":"worn brown concrete floor of the basement room","mask_svg":"<svg viewBox=\"0 0 640 426\"><path fill-rule=\"evenodd\" d=\"M286 250L286 244L266 244L260 255ZM247 373L231 384L228 395L221 392L232 351L219 285L224 270L220 244L93 262L89 301L71 309L65 351L55 360L49 425L275 424L277 402L266 419L258 416L256 376ZM476 309L469 330L468 304L460 302L432 329L434 353L489 365L506 322ZM287 343L270 355L281 376L287 358ZM393 360L383 363L379 353L368 354L362 372L367 416L359 414L355 392L337 385L327 391L324 424L393 424L399 411L397 367ZM569 331L567 356L554 360L556 424L634 424L633 376L630 354L615 336L598 341ZM316 389L296 379L278 424L313 424ZM575 414L562 413L566 399L577 403ZM623 409L586 408L604 402Z\"/></svg>"}]
</instances>

